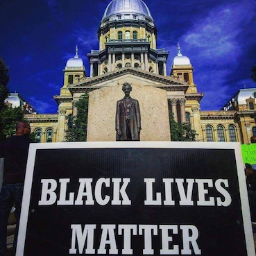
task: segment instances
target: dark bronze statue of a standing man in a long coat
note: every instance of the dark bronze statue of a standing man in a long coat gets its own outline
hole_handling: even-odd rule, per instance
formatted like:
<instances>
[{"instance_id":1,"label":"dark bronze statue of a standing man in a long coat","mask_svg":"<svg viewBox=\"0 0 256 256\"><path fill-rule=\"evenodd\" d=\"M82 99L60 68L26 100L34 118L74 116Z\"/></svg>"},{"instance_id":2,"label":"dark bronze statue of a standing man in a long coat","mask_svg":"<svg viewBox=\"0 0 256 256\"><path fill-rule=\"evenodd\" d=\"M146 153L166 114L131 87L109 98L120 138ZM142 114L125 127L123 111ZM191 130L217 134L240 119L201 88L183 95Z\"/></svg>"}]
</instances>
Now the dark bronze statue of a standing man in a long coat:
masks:
<instances>
[{"instance_id":1,"label":"dark bronze statue of a standing man in a long coat","mask_svg":"<svg viewBox=\"0 0 256 256\"><path fill-rule=\"evenodd\" d=\"M116 131L117 141L140 140L141 127L139 101L130 97L133 87L129 83L123 84L124 98L117 101Z\"/></svg>"}]
</instances>

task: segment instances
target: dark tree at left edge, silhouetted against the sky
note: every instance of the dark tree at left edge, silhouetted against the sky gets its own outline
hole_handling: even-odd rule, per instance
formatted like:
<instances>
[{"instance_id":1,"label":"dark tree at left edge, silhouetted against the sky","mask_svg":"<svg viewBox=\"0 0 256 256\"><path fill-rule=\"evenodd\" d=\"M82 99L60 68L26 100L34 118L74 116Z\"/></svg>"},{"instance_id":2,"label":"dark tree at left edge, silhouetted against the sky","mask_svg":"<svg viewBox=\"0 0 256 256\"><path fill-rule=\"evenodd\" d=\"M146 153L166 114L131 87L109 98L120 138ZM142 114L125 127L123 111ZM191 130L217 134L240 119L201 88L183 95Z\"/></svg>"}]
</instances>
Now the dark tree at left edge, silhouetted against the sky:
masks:
<instances>
[{"instance_id":1,"label":"dark tree at left edge, silhouetted against the sky","mask_svg":"<svg viewBox=\"0 0 256 256\"><path fill-rule=\"evenodd\" d=\"M0 112L5 107L4 100L9 94L9 89L7 87L9 80L8 67L6 67L3 59L0 59Z\"/></svg>"}]
</instances>

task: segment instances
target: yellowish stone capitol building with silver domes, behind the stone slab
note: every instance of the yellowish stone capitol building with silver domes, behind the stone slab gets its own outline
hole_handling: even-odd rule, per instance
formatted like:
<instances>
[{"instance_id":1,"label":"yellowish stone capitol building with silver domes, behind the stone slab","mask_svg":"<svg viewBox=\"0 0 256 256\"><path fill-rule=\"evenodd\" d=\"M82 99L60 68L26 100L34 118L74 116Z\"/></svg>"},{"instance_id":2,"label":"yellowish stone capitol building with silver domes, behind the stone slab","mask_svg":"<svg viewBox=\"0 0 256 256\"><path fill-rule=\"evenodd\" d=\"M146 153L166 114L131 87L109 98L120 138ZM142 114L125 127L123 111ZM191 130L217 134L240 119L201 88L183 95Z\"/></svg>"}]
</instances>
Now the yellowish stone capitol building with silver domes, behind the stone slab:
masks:
<instances>
[{"instance_id":1,"label":"yellowish stone capitol building with silver domes, behind the stone slab","mask_svg":"<svg viewBox=\"0 0 256 256\"><path fill-rule=\"evenodd\" d=\"M123 80L165 90L174 119L191 123L198 134L196 141L248 144L256 135L256 89L239 90L220 111L200 111L203 93L194 83L194 67L178 44L171 73L167 74L169 52L157 49L155 22L142 0L112 0L105 9L98 37L99 50L87 54L89 76L78 47L74 58L67 60L64 84L60 94L54 96L58 114L26 114L37 142L65 141L67 117L77 111L74 102L85 92L117 86Z\"/></svg>"}]
</instances>

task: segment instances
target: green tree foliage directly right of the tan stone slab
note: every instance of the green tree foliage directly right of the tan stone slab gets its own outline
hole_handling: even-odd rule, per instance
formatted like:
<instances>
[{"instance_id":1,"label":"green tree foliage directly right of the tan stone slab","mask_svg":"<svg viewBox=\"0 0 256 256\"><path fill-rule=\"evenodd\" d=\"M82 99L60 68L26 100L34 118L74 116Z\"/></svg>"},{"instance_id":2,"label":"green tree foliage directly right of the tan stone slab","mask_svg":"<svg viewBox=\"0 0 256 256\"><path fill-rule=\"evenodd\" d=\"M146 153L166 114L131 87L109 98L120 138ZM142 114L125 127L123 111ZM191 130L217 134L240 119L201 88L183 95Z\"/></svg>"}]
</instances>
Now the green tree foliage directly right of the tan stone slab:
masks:
<instances>
[{"instance_id":1,"label":"green tree foliage directly right of the tan stone slab","mask_svg":"<svg viewBox=\"0 0 256 256\"><path fill-rule=\"evenodd\" d=\"M177 123L174 120L173 113L169 111L170 130L172 142L195 142L196 130L191 129L188 123Z\"/></svg>"}]
</instances>

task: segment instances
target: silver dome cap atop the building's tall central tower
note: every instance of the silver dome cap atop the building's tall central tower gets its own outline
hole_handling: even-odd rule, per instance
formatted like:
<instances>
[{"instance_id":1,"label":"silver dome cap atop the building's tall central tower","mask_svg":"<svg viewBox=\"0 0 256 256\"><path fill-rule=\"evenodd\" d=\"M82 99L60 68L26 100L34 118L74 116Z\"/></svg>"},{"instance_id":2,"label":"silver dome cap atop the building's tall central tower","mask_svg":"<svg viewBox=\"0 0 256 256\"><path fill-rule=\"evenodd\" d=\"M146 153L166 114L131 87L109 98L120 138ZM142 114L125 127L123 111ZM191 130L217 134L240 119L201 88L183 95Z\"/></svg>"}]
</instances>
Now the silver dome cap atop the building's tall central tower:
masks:
<instances>
[{"instance_id":1,"label":"silver dome cap atop the building's tall central tower","mask_svg":"<svg viewBox=\"0 0 256 256\"><path fill-rule=\"evenodd\" d=\"M105 9L102 20L112 15L122 14L144 15L148 19L153 20L148 6L142 0L112 0Z\"/></svg>"}]
</instances>

